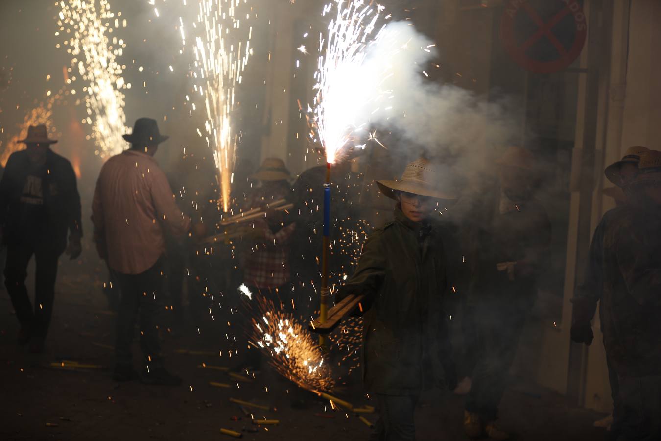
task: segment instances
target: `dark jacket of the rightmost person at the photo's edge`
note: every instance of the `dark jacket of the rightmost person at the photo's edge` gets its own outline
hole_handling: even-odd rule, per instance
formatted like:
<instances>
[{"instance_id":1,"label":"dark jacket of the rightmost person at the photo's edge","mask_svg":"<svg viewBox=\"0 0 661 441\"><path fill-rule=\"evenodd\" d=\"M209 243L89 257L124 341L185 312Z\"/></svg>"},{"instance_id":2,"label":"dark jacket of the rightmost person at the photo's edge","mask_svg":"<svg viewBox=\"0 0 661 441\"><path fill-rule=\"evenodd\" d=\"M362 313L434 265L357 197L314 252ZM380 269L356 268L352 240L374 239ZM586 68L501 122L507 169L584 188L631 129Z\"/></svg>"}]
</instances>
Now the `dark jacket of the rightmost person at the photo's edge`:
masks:
<instances>
[{"instance_id":1,"label":"dark jacket of the rightmost person at the photo's edge","mask_svg":"<svg viewBox=\"0 0 661 441\"><path fill-rule=\"evenodd\" d=\"M661 375L661 213L615 208L603 233L603 344L623 376Z\"/></svg>"}]
</instances>

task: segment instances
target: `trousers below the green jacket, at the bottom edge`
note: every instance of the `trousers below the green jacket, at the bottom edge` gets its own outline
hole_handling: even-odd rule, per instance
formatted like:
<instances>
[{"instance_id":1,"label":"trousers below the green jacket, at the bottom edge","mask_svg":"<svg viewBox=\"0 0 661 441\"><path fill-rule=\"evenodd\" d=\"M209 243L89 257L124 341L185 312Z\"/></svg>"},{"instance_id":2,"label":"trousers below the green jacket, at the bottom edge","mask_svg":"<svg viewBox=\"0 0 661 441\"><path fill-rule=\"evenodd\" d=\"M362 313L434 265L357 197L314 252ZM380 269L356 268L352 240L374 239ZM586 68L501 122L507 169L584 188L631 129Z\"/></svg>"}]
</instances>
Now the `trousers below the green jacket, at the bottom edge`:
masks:
<instances>
[{"instance_id":1,"label":"trousers below the green jacket, at the bottom edge","mask_svg":"<svg viewBox=\"0 0 661 441\"><path fill-rule=\"evenodd\" d=\"M380 395L379 419L369 441L414 441L417 395Z\"/></svg>"}]
</instances>

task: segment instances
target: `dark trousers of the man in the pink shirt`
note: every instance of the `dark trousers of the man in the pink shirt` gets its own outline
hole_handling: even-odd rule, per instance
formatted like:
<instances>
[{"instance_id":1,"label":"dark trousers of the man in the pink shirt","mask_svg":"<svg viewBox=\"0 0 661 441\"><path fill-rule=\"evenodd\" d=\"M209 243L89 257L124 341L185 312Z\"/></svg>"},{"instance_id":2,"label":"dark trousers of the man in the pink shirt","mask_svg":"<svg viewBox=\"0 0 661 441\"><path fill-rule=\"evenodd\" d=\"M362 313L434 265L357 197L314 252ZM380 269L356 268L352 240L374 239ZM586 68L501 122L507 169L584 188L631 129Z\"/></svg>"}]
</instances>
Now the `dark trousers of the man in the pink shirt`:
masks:
<instances>
[{"instance_id":1,"label":"dark trousers of the man in the pink shirt","mask_svg":"<svg viewBox=\"0 0 661 441\"><path fill-rule=\"evenodd\" d=\"M161 364L159 315L163 309L163 258L141 274L116 273L122 292L117 315L115 356L118 365L132 366L131 345L139 314L140 346L147 366Z\"/></svg>"}]
</instances>

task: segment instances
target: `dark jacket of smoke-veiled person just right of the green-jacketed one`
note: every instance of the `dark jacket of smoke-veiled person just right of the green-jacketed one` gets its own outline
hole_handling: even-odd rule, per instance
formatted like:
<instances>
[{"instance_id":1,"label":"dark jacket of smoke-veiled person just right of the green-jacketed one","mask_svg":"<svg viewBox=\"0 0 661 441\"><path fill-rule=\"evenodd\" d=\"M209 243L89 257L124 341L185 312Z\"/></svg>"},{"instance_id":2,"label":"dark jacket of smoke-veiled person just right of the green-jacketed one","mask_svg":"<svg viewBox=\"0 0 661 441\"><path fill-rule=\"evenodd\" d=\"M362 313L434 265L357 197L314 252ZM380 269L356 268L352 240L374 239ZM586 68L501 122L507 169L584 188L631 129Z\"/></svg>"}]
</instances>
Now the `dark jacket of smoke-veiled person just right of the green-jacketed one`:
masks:
<instances>
[{"instance_id":1,"label":"dark jacket of smoke-veiled person just right of the green-jacketed one","mask_svg":"<svg viewBox=\"0 0 661 441\"><path fill-rule=\"evenodd\" d=\"M505 301L512 307L529 308L537 283L549 264L551 221L546 210L529 200L509 212L500 213L500 188L479 199L464 231L467 264L470 266L469 303ZM514 280L502 262L518 262ZM525 264L525 270L520 271Z\"/></svg>"}]
</instances>

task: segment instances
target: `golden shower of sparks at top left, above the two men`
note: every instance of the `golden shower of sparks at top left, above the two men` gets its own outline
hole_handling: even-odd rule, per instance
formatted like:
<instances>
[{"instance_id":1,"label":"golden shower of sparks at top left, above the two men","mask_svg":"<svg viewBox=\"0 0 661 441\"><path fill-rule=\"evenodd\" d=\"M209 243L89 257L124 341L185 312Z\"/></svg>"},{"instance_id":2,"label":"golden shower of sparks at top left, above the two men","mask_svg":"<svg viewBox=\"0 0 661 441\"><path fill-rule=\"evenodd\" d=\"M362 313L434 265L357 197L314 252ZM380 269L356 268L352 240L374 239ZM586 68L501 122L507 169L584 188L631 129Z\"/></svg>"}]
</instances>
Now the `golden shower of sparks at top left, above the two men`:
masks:
<instances>
[{"instance_id":1,"label":"golden shower of sparks at top left, above the two men","mask_svg":"<svg viewBox=\"0 0 661 441\"><path fill-rule=\"evenodd\" d=\"M128 132L122 90L130 89L131 84L122 77L126 66L116 60L126 44L110 36L114 28L126 27L126 19L112 13L106 0L62 0L59 7L56 36L64 36L63 45L72 56L73 75L67 82L76 81L78 73L85 83L87 118L83 123L92 126L97 154L107 158L124 149L122 135Z\"/></svg>"}]
</instances>

